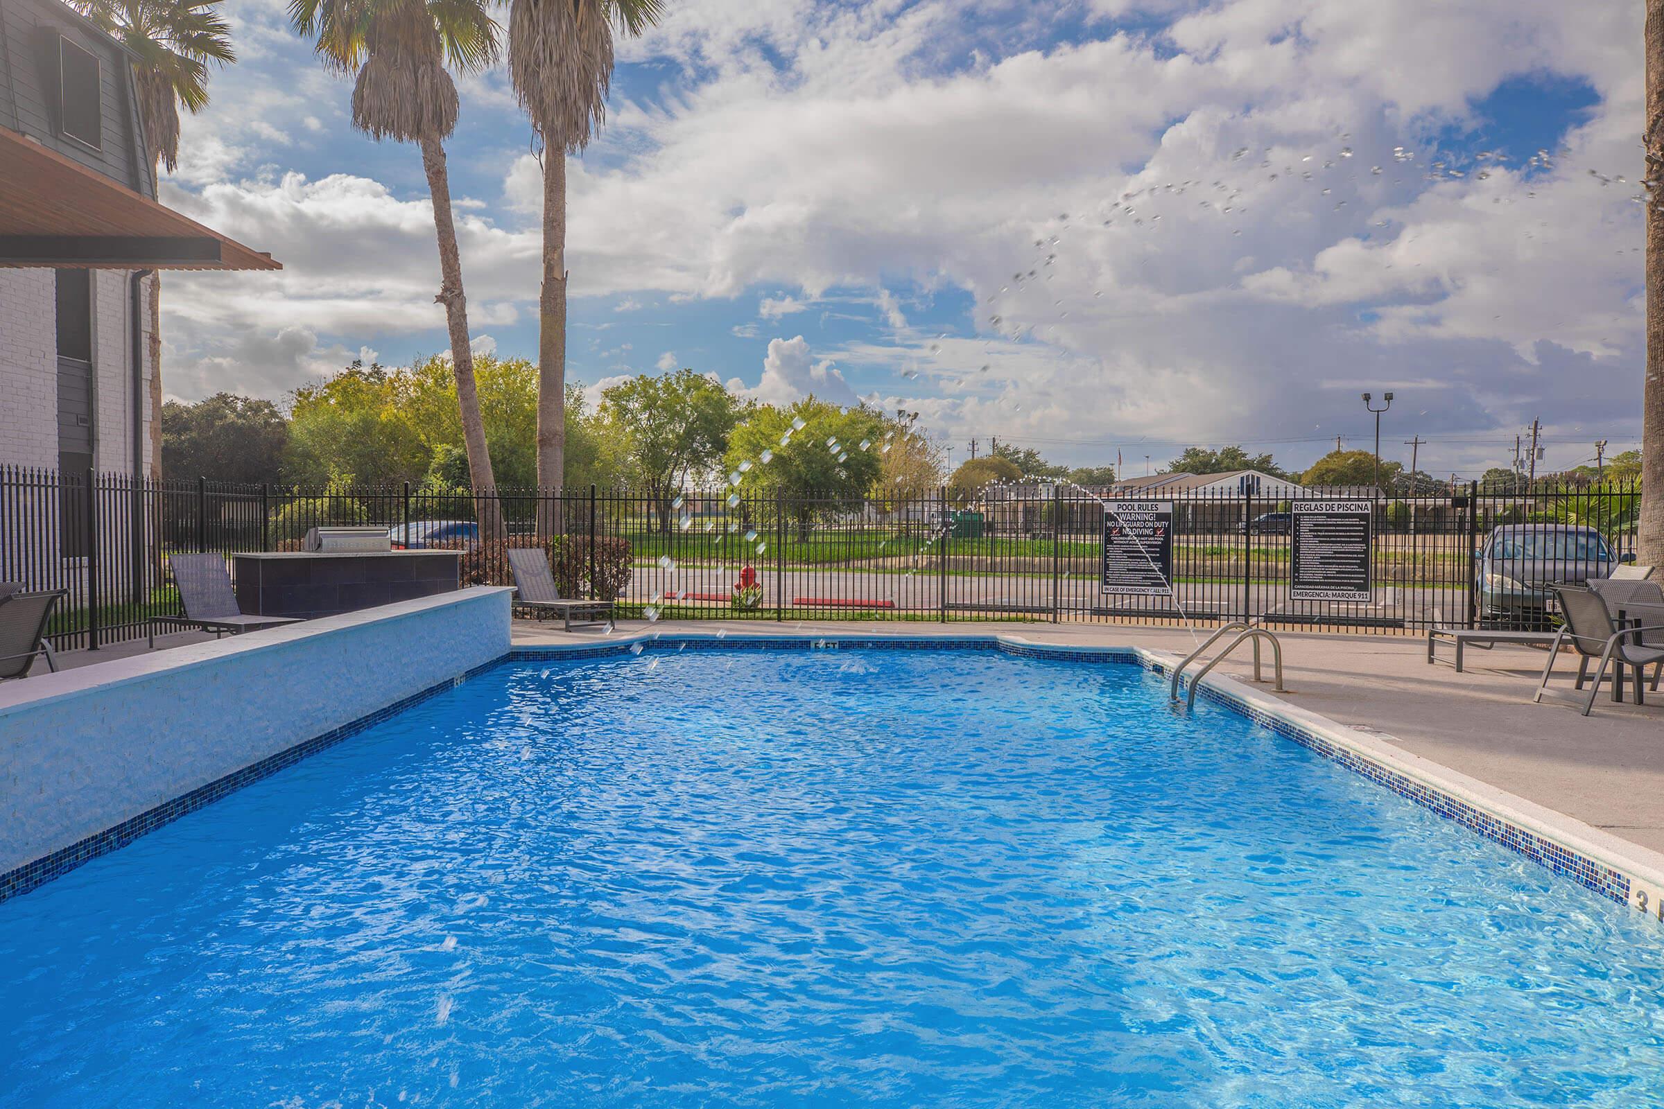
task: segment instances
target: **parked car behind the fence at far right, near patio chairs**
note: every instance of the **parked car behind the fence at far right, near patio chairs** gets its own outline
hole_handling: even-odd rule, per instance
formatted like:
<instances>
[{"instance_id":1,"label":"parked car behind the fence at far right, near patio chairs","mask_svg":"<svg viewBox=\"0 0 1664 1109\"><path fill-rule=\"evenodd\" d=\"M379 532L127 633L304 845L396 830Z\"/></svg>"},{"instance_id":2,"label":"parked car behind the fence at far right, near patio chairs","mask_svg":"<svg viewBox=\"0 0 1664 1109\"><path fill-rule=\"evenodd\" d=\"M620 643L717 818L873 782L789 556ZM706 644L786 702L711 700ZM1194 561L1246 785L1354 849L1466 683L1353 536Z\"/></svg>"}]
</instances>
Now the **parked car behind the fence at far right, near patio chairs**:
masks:
<instances>
[{"instance_id":1,"label":"parked car behind the fence at far right, near patio chairs","mask_svg":"<svg viewBox=\"0 0 1664 1109\"><path fill-rule=\"evenodd\" d=\"M1483 627L1546 628L1554 624L1549 585L1611 577L1634 554L1614 554L1592 527L1504 524L1474 552L1474 590Z\"/></svg>"}]
</instances>

